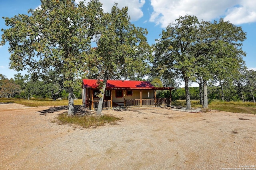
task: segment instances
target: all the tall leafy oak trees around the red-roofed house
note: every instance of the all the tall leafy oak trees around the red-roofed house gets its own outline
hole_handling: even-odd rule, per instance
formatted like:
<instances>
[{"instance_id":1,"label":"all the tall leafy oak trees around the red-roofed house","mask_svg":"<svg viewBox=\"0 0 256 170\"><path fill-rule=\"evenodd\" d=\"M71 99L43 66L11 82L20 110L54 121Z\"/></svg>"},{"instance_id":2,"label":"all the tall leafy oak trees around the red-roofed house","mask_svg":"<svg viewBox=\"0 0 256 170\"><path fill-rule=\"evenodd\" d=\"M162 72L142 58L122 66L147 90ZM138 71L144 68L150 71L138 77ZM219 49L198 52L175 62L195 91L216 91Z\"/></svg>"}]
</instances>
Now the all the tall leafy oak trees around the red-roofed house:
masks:
<instances>
[{"instance_id":1,"label":"all the tall leafy oak trees around the red-roofed house","mask_svg":"<svg viewBox=\"0 0 256 170\"><path fill-rule=\"evenodd\" d=\"M103 79L98 81L97 114L101 113L107 79L138 80L146 75L151 80L158 78L162 86L177 86L177 80L184 81L187 109L191 108L191 82L199 84L203 107L208 107L207 87L216 82L222 96L224 89L233 84L239 98L246 100L243 88L249 80L244 79L248 72L242 59L246 55L242 50L246 39L242 27L222 18L210 22L180 16L162 31L154 45L149 45L147 29L130 22L127 7L119 9L114 4L106 13L98 0L87 4L74 0L41 3L27 15L4 17L8 29L1 29L1 45L9 43L10 68L26 69L32 80L51 80L45 83L55 84L56 89L66 88L68 115L74 115L74 89L81 78ZM254 98L255 85L250 88ZM52 94L60 91L56 89L51 90Z\"/></svg>"}]
</instances>

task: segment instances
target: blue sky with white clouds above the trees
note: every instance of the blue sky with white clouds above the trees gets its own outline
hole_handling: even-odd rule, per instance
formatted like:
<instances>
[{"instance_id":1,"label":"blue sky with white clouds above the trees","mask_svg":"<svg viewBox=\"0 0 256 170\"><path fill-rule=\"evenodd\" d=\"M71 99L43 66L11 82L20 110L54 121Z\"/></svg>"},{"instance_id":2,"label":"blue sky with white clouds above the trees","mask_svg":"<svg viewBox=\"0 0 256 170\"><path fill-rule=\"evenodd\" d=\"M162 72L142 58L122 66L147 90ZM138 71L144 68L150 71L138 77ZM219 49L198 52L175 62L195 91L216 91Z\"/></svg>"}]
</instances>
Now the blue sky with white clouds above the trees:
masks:
<instances>
[{"instance_id":1,"label":"blue sky with white clouds above the trees","mask_svg":"<svg viewBox=\"0 0 256 170\"><path fill-rule=\"evenodd\" d=\"M78 1L78 0L76 0ZM88 0L87 0L88 2ZM252 0L100 0L104 12L110 12L114 2L119 8L128 6L132 23L148 29L148 43L155 43L162 29L179 16L186 14L198 17L198 20L213 21L224 18L225 21L242 26L247 33L242 49L246 51L244 61L249 69L256 70L256 1ZM2 17L27 14L28 9L40 6L40 0L0 0L0 28L6 29ZM0 31L2 35L2 31ZM1 37L0 37L1 39ZM10 70L8 44L0 46L0 74L13 78L18 73ZM21 72L26 74L26 71Z\"/></svg>"}]
</instances>

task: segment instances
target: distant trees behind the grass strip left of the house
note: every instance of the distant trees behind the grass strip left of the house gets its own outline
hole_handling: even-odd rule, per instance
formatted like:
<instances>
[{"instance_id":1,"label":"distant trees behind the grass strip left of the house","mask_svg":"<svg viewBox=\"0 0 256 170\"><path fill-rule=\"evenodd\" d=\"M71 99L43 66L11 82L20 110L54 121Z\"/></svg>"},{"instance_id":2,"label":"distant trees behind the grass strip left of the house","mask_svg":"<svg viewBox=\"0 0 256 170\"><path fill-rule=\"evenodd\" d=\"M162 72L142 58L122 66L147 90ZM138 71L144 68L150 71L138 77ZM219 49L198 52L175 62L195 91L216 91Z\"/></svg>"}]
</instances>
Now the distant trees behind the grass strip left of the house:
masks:
<instances>
[{"instance_id":1,"label":"distant trees behind the grass strip left of the house","mask_svg":"<svg viewBox=\"0 0 256 170\"><path fill-rule=\"evenodd\" d=\"M77 98L82 98L81 82L76 81L74 86L74 94ZM58 92L54 94L53 92ZM3 74L0 74L0 97L2 98L68 98L68 89L60 88L56 82L33 80L28 74L21 75L20 73L14 75L14 79L8 79Z\"/></svg>"}]
</instances>

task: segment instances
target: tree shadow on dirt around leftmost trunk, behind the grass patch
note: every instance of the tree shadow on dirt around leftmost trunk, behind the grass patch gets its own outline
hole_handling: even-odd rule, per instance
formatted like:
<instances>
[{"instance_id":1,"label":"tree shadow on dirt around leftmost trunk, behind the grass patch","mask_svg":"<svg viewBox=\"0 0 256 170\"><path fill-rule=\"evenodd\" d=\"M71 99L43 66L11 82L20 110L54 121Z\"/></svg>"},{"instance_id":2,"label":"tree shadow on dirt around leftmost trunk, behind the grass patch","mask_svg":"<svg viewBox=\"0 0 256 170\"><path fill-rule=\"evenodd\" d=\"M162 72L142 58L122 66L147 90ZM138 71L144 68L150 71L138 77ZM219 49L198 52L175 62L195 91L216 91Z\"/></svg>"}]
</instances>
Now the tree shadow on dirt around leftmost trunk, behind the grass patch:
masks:
<instances>
[{"instance_id":1,"label":"tree shadow on dirt around leftmost trunk, behind the grass patch","mask_svg":"<svg viewBox=\"0 0 256 170\"><path fill-rule=\"evenodd\" d=\"M48 113L55 113L63 111L63 113L68 112L68 106L53 106L49 107L48 109L37 111L37 113L40 113L39 115L46 115ZM93 114L94 111L80 105L74 106L74 113L76 115L87 115L87 114Z\"/></svg>"}]
</instances>

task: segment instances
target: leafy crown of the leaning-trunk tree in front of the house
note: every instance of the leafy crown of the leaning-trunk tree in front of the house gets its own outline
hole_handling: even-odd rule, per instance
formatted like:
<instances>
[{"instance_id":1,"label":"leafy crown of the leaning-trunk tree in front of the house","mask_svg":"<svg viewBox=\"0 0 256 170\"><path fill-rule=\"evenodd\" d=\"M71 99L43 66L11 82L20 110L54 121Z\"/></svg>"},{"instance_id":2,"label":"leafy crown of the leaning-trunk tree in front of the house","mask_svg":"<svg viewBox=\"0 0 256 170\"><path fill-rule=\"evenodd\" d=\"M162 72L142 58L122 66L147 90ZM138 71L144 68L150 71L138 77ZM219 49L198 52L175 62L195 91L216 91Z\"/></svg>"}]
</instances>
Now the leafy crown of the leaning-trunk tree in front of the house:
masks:
<instances>
[{"instance_id":1,"label":"leafy crown of the leaning-trunk tree in front of the house","mask_svg":"<svg viewBox=\"0 0 256 170\"><path fill-rule=\"evenodd\" d=\"M128 8L121 10L115 4L111 13L102 16L102 24L96 39L97 47L91 49L86 62L88 68L99 77L108 71L108 78L141 78L149 73L151 47L147 43L146 29L130 23Z\"/></svg>"}]
</instances>

